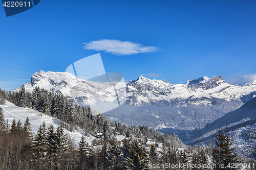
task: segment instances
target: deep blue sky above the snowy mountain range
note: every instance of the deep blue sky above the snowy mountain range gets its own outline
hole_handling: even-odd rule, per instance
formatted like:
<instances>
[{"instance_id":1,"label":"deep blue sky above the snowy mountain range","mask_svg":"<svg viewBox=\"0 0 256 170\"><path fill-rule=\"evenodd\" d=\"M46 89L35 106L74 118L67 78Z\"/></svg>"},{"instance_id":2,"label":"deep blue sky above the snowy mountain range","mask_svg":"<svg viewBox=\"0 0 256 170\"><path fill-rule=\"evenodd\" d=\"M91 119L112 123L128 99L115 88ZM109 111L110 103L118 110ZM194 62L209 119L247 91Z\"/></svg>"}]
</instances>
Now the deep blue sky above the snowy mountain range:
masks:
<instances>
[{"instance_id":1,"label":"deep blue sky above the snowy mountain range","mask_svg":"<svg viewBox=\"0 0 256 170\"><path fill-rule=\"evenodd\" d=\"M6 17L0 7L0 88L97 53L106 72L128 80L222 75L242 85L256 80L255 8L256 1L41 0Z\"/></svg>"}]
</instances>

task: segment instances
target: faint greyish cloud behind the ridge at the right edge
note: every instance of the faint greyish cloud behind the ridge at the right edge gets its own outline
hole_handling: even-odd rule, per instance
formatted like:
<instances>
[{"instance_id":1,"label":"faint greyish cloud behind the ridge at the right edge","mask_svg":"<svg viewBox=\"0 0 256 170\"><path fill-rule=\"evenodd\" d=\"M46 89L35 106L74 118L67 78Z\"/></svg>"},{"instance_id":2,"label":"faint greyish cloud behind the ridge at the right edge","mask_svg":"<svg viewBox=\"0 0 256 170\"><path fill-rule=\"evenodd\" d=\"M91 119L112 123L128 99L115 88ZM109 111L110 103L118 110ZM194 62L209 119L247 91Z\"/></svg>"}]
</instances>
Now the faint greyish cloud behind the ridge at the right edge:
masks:
<instances>
[{"instance_id":1,"label":"faint greyish cloud behind the ridge at the right edge","mask_svg":"<svg viewBox=\"0 0 256 170\"><path fill-rule=\"evenodd\" d=\"M244 75L241 78L232 78L227 80L228 84L237 84L239 86L247 85L256 81L256 74Z\"/></svg>"}]
</instances>

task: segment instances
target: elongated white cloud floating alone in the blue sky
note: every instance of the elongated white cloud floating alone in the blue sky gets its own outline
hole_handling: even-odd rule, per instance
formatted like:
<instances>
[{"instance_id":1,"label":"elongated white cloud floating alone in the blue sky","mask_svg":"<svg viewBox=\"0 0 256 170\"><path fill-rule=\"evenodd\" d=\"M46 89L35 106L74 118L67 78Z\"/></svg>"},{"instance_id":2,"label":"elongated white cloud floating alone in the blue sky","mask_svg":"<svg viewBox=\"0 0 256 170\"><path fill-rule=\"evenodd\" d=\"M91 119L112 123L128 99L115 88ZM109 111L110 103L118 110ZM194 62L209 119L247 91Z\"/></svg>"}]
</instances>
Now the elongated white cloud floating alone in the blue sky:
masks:
<instances>
[{"instance_id":1,"label":"elongated white cloud floating alone in the blue sky","mask_svg":"<svg viewBox=\"0 0 256 170\"><path fill-rule=\"evenodd\" d=\"M82 44L84 44L83 49L85 50L104 51L105 53L112 53L118 56L161 51L157 46L142 46L142 44L137 42L114 39L102 39Z\"/></svg>"}]
</instances>

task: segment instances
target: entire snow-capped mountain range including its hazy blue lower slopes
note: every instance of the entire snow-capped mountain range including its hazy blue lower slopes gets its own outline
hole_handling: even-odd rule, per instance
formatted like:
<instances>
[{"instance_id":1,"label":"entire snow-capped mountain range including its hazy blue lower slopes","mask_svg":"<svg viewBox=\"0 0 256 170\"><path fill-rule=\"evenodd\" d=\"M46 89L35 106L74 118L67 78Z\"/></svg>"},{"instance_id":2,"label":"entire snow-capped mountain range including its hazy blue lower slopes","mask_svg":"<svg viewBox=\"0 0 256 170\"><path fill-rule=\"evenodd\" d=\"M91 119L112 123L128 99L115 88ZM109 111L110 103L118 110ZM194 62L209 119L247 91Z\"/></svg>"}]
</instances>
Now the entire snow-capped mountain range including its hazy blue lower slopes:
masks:
<instances>
[{"instance_id":1,"label":"entire snow-capped mountain range including its hazy blue lower slopes","mask_svg":"<svg viewBox=\"0 0 256 170\"><path fill-rule=\"evenodd\" d=\"M140 76L135 81L123 81L120 84L126 87L116 88L118 90L115 93L108 83L77 79L68 72L37 71L25 88L32 91L36 86L43 87L67 95L83 106L101 103L110 106L116 104L118 95L118 100L124 104L105 112L108 118L129 125L181 130L203 128L225 113L238 109L256 95L256 83L229 85L222 76L202 77L185 84Z\"/></svg>"}]
</instances>

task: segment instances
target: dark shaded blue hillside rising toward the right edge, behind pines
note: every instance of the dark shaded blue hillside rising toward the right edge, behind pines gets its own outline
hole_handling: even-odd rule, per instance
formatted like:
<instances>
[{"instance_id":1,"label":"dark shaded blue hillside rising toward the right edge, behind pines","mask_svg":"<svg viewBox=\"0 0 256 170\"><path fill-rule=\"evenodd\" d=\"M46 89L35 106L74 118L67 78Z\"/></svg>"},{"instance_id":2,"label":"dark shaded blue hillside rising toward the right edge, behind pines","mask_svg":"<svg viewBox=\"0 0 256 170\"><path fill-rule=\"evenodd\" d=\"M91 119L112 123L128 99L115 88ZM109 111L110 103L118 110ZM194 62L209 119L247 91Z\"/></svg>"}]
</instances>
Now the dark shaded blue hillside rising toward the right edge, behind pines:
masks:
<instances>
[{"instance_id":1,"label":"dark shaded blue hillside rising toward the right edge, behind pines","mask_svg":"<svg viewBox=\"0 0 256 170\"><path fill-rule=\"evenodd\" d=\"M253 145L256 144L256 98L252 98L237 110L231 111L202 129L178 130L173 128L160 129L160 132L175 133L186 144L198 142L210 143L210 139L218 132L219 127L228 126L229 135L236 145L236 152L252 157ZM197 140L197 138L199 140Z\"/></svg>"}]
</instances>

